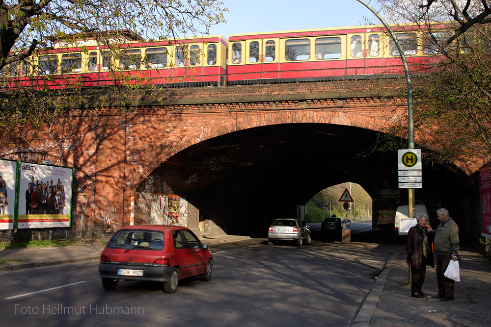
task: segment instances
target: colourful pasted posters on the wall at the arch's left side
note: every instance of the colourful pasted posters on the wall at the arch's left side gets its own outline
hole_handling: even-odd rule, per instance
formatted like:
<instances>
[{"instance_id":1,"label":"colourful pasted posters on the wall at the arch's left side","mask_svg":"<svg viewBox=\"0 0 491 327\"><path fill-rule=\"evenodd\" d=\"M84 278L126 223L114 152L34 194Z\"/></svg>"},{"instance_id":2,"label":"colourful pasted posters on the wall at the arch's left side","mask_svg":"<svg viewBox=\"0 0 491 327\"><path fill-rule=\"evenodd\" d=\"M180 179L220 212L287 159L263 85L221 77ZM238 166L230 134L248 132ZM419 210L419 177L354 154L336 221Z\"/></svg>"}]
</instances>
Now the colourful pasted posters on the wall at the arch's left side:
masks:
<instances>
[{"instance_id":1,"label":"colourful pasted posters on the wall at the arch's left side","mask_svg":"<svg viewBox=\"0 0 491 327\"><path fill-rule=\"evenodd\" d=\"M152 224L188 226L188 201L172 194L155 194L151 208Z\"/></svg>"}]
</instances>

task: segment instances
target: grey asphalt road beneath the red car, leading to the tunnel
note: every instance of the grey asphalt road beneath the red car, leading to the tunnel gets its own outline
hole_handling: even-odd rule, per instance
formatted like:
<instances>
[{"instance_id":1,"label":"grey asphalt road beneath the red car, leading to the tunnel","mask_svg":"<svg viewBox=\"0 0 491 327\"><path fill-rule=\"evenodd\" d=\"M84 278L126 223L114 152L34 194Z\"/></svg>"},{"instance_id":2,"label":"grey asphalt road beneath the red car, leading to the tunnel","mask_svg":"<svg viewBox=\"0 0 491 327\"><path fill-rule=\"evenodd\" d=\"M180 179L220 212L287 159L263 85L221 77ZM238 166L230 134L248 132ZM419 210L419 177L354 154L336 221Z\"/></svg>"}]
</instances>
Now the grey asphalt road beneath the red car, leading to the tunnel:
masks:
<instances>
[{"instance_id":1,"label":"grey asphalt road beneath the red car, leading to the tunnel","mask_svg":"<svg viewBox=\"0 0 491 327\"><path fill-rule=\"evenodd\" d=\"M389 254L365 244L266 239L212 247L212 279L120 282L104 291L97 262L1 274L3 326L351 326Z\"/></svg>"}]
</instances>

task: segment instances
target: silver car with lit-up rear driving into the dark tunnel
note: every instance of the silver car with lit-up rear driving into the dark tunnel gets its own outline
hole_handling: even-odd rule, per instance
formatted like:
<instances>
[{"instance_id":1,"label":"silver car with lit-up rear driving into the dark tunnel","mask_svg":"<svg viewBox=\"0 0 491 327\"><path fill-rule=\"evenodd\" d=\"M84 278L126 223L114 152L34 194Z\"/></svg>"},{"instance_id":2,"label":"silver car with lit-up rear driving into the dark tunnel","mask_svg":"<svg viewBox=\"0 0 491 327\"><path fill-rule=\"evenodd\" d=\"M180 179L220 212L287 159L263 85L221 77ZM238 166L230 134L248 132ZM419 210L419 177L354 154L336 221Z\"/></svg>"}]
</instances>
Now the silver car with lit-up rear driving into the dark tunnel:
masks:
<instances>
[{"instance_id":1,"label":"silver car with lit-up rear driving into the dark tunnel","mask_svg":"<svg viewBox=\"0 0 491 327\"><path fill-rule=\"evenodd\" d=\"M268 244L293 241L297 246L310 244L310 230L305 222L296 218L280 218L271 224L268 231Z\"/></svg>"}]
</instances>

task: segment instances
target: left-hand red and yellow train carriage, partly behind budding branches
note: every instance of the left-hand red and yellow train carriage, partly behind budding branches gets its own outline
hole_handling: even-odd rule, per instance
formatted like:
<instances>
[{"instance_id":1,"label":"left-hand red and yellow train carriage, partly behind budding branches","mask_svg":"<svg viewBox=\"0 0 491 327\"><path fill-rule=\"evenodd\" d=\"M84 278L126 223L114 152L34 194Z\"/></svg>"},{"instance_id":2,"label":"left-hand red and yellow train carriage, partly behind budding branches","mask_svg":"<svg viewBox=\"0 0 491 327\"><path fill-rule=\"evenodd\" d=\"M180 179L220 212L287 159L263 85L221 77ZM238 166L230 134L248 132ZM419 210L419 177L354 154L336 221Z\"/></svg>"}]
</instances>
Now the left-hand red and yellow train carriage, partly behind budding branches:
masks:
<instances>
[{"instance_id":1,"label":"left-hand red and yellow train carriage, partly behind budding branches","mask_svg":"<svg viewBox=\"0 0 491 327\"><path fill-rule=\"evenodd\" d=\"M99 46L95 39L76 44L55 43L9 67L10 86L36 88L101 87L119 84L224 85L227 39L206 36L170 41L145 41L122 33L116 46Z\"/></svg>"}]
</instances>

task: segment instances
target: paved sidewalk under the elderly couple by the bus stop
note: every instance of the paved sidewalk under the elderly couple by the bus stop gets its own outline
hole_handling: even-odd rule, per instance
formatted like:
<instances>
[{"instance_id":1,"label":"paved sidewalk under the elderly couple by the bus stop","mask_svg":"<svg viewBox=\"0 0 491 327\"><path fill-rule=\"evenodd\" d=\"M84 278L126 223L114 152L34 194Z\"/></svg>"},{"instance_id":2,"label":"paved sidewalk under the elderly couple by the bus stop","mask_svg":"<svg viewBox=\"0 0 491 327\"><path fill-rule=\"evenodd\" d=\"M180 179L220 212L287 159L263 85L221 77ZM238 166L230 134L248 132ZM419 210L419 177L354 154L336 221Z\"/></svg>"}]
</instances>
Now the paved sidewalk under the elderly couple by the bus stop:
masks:
<instances>
[{"instance_id":1,"label":"paved sidewalk under the elderly couple by the bus stop","mask_svg":"<svg viewBox=\"0 0 491 327\"><path fill-rule=\"evenodd\" d=\"M387 262L384 272L386 270L389 272L383 281L383 291L377 304L372 307L370 321L358 319L360 316L358 314L353 326L490 326L491 265L475 249L461 248L459 252L461 281L455 282L455 300L442 302L431 298L438 290L436 270L431 267L427 268L423 285L426 298L411 298L405 248L403 245L393 247L399 248L399 254L394 255ZM384 272L379 279L383 278ZM377 292L377 282L370 295ZM428 312L428 310L436 312Z\"/></svg>"}]
</instances>

